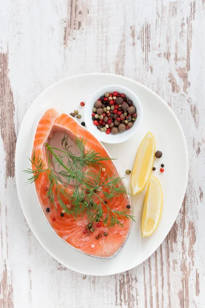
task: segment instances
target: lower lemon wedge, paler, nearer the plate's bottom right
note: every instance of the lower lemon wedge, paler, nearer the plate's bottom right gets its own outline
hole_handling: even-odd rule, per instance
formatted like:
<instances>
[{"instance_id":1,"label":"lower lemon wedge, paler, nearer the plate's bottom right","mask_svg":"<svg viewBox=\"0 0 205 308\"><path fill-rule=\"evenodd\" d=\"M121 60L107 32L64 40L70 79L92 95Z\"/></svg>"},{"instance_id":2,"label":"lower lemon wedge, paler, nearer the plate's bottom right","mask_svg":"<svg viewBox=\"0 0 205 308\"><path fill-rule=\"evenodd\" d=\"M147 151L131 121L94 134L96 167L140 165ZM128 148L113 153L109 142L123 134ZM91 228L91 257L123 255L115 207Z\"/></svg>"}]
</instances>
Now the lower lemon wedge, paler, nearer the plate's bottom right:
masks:
<instances>
[{"instance_id":1,"label":"lower lemon wedge, paler, nearer the plate's bottom right","mask_svg":"<svg viewBox=\"0 0 205 308\"><path fill-rule=\"evenodd\" d=\"M163 195L161 184L154 176L150 177L141 219L142 237L150 236L156 230L162 211Z\"/></svg>"}]
</instances>

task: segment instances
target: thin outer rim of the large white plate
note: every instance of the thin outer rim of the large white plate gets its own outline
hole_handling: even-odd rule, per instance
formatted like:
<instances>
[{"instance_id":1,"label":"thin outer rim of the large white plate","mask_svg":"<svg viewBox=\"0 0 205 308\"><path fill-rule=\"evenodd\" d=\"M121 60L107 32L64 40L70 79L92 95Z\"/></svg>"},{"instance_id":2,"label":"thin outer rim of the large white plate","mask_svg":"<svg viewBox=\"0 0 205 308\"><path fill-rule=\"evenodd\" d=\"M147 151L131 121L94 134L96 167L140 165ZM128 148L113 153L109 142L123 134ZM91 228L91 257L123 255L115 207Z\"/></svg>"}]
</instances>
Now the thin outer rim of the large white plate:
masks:
<instances>
[{"instance_id":1,"label":"thin outer rim of the large white plate","mask_svg":"<svg viewBox=\"0 0 205 308\"><path fill-rule=\"evenodd\" d=\"M23 117L23 120L22 120L22 123L20 123L20 127L19 127L19 130L18 130L18 136L17 136L17 141L16 141L16 147L15 147L15 166L17 164L17 148L18 148L18 143L19 143L19 135L21 133L21 130L23 129L22 128L22 124L24 122L24 119L26 118L26 115L29 111L29 109L31 108L31 106L36 102L36 100L38 100L42 95L44 95L47 91L49 91L52 87L60 84L60 83L63 83L67 80L70 80L70 79L76 79L78 78L79 76L97 76L97 75L107 75L107 76L117 76L118 78L120 79L126 79L128 80L129 82L132 82L133 84L137 84L138 86L144 88L145 90L147 90L148 92L152 93L152 95L155 96L155 98L157 98L158 100L160 100L160 102L165 106L165 108L167 108L169 110L169 112L172 113L175 121L176 121L176 124L178 126L178 129L180 130L181 132L181 137L183 139L183 148L185 149L185 153L186 153L186 157L185 157L185 161L186 161L186 175L185 175L185 184L183 186L183 188L181 189L181 200L179 202L180 206L178 206L178 209L177 209L177 215L174 219L172 219L169 223L169 228L168 228L168 232L165 233L165 236L163 237L163 240L161 241L161 243L156 247L156 248L153 248L151 249L150 253L148 256L146 256L146 259L144 260L139 260L139 262L137 262L137 264L133 267L132 265L125 270L125 271L130 271L130 269L132 268L135 268L136 266L140 265L141 263L145 262L147 259L150 258L151 255L153 255L153 253L159 248L159 246L163 243L163 241L166 239L167 235L169 234L174 222L176 221L177 219L177 216L179 214L179 211L180 211L180 208L182 206L182 203L183 203L183 199L185 198L185 195L186 195L186 190L187 190L187 184L188 184L188 179L189 179L189 156L188 156L188 147L187 147L187 142L186 142L186 137L185 137L185 133L183 132L183 129L181 127L181 124L178 120L178 118L176 117L176 114L174 113L174 111L171 109L171 107L165 102L165 100L163 100L157 93L155 93L153 90L151 90L150 88L148 88L147 86L131 79L131 78L128 78L128 77L125 77L125 76L121 76L121 75L118 75L118 74L113 74L113 73L83 73L83 74L76 74L76 75L72 75L72 76L69 76L69 77L66 77L66 78L63 78L63 79L60 79L58 80L57 82L51 84L50 86L48 86L46 89L44 89L42 92L40 92L40 94L37 95L37 97L33 100L33 102L31 103L31 105L29 106L29 108L27 109L26 113L24 114L24 117ZM22 211L23 211L23 214L25 216L25 219L33 233L33 235L35 236L35 238L38 240L38 242L40 243L40 245L43 246L43 248L56 260L58 261L59 263L61 263L62 265L64 265L65 267L71 269L72 271L76 272L76 273L79 273L79 274L83 274L83 275L90 275L90 276L110 276L110 275L116 275L116 274L120 274L120 273L124 273L125 271L121 272L121 271L115 271L115 273L108 273L106 275L104 274L90 274L86 271L84 272L81 272L81 271L78 271L76 268L73 268L72 266L69 266L66 265L64 262L62 262L59 258L56 258L56 256L54 256L54 254L50 251L50 249L48 247L45 247L45 245L42 243L42 240L33 232L32 228L31 228L31 225L30 225L30 219L29 217L27 216L27 214L25 213L25 209L23 208L22 206L22 203L23 201L21 200L20 196L19 196L19 188L18 188L18 181L17 181L17 171L16 171L16 168L15 168L15 182L16 182L16 190L17 190L17 195L18 195L18 200L20 202L20 207L22 208Z\"/></svg>"}]
</instances>

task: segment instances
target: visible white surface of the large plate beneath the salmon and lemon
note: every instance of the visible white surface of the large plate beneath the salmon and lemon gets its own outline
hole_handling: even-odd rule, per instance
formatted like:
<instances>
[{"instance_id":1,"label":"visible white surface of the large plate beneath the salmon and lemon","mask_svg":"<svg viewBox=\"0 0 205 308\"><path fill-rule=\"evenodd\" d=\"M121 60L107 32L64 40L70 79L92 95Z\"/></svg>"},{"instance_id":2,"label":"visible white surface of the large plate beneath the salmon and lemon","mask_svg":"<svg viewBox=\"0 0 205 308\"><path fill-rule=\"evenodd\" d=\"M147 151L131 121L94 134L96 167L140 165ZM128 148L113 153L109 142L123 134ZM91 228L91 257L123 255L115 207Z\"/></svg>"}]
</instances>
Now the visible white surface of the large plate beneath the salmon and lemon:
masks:
<instances>
[{"instance_id":1,"label":"visible white surface of the large plate beneath the salmon and lemon","mask_svg":"<svg viewBox=\"0 0 205 308\"><path fill-rule=\"evenodd\" d=\"M59 112L70 113L78 109L83 114L81 101L86 102L98 88L119 84L130 88L141 101L144 120L134 137L121 144L105 144L110 155L117 158L116 166L125 175L132 169L140 141L150 130L156 140L156 149L163 152L155 160L153 174L160 180L163 190L163 211L156 232L149 238L140 233L141 210L145 192L132 198L136 223L128 241L112 259L97 259L81 254L69 247L54 234L38 204L34 185L25 185L27 175L22 170L30 167L36 121L47 108L55 107ZM83 118L80 119L80 122ZM165 164L165 172L160 174L160 164ZM105 276L131 269L150 257L169 233L181 207L188 181L188 152L182 128L170 107L157 94L147 87L128 78L113 74L84 74L61 80L40 94L27 111L16 144L15 156L16 185L18 197L26 220L42 246L61 264L73 271ZM130 176L125 175L129 187Z\"/></svg>"}]
</instances>

